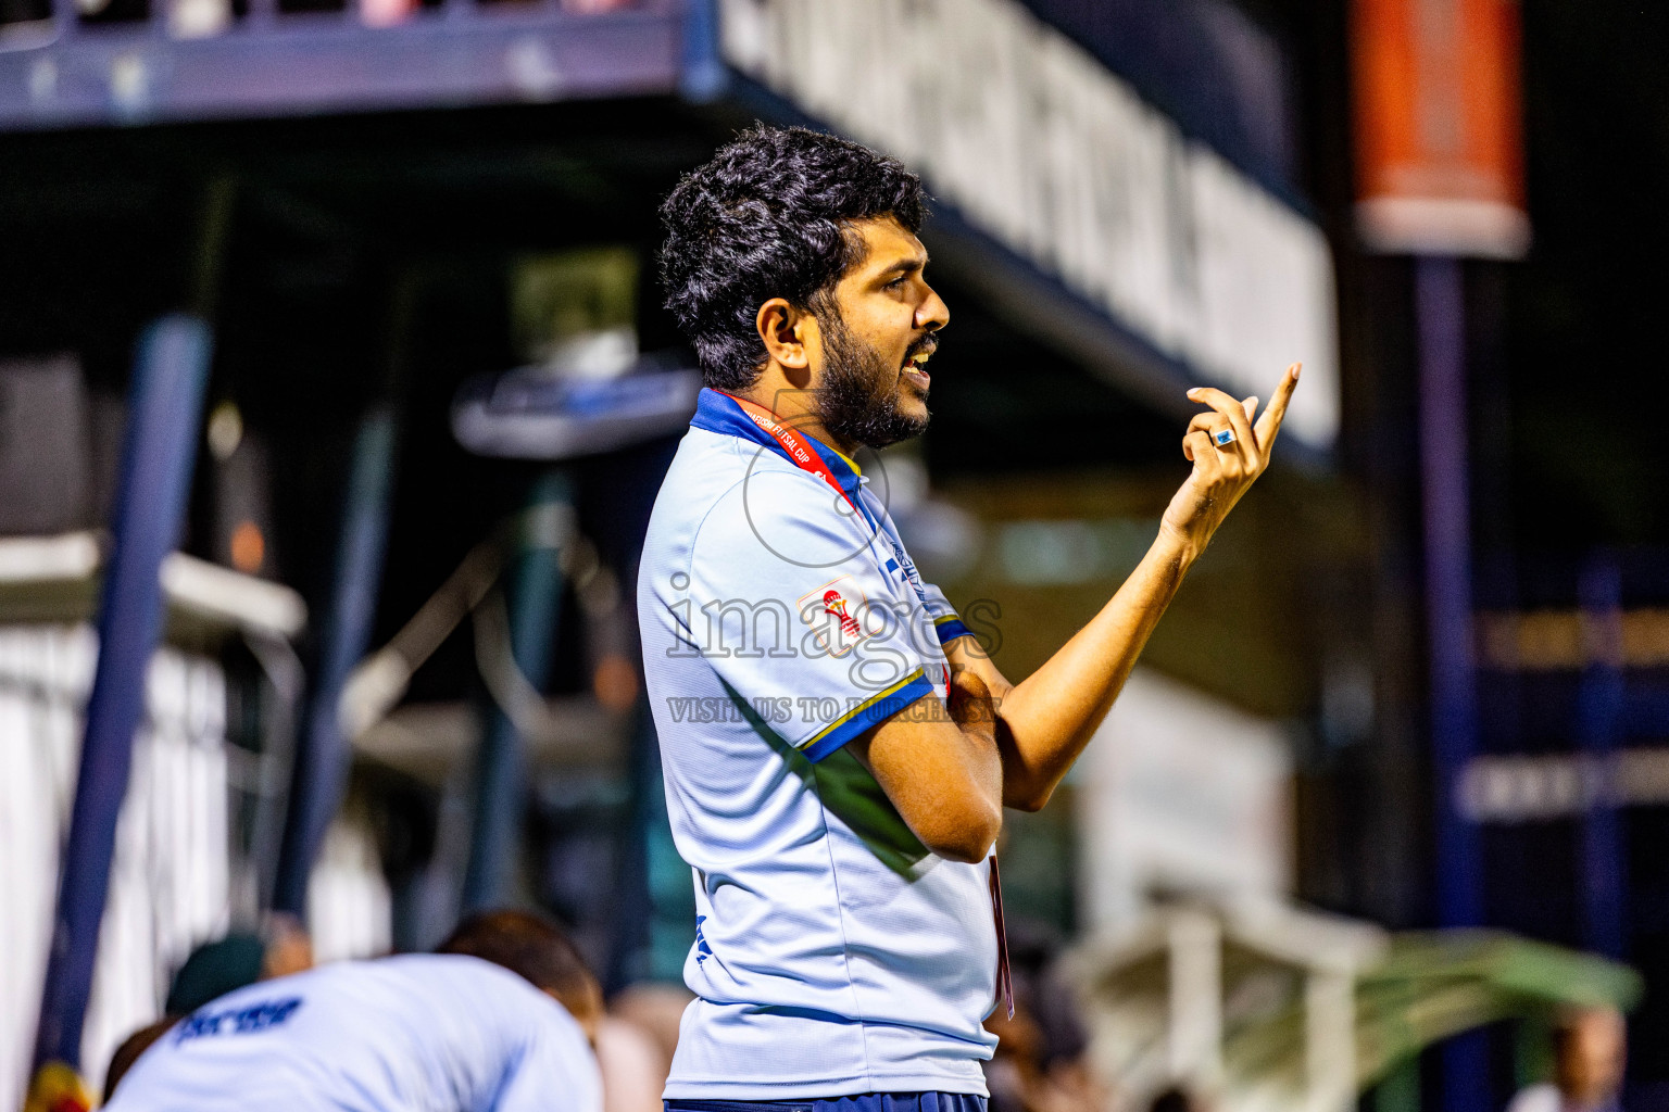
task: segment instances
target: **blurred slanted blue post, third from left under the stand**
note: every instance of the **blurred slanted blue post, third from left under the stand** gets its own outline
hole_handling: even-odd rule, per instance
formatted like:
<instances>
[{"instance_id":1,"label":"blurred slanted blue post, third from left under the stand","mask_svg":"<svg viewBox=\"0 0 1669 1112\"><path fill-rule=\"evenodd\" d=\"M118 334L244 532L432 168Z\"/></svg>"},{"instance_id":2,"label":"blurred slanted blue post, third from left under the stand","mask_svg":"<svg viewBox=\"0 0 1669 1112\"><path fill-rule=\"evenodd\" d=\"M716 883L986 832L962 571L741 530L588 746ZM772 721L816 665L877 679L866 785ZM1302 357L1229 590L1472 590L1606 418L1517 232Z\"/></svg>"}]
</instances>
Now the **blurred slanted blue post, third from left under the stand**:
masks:
<instances>
[{"instance_id":1,"label":"blurred slanted blue post, third from left under the stand","mask_svg":"<svg viewBox=\"0 0 1669 1112\"><path fill-rule=\"evenodd\" d=\"M562 569L559 545L572 512L572 485L561 470L541 475L527 495L527 513L509 569L511 655L536 690L551 677L551 650L561 620ZM476 812L464 870L464 914L497 907L511 894L511 875L527 799L526 742L504 709L486 712L476 765Z\"/></svg>"}]
</instances>

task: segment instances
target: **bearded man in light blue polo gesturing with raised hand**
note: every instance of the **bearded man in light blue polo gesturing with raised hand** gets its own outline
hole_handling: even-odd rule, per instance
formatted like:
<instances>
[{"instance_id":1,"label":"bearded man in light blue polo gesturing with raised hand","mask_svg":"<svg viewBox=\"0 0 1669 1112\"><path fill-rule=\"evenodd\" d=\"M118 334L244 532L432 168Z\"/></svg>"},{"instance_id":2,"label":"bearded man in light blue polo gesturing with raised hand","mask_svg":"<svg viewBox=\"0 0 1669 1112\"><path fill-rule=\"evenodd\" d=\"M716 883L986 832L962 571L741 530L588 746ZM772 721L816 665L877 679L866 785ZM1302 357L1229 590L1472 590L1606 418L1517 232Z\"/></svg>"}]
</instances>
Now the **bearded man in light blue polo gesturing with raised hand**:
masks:
<instances>
[{"instance_id":1,"label":"bearded man in light blue polo gesturing with raised hand","mask_svg":"<svg viewBox=\"0 0 1669 1112\"><path fill-rule=\"evenodd\" d=\"M1041 807L1083 750L1267 467L1298 368L1255 428L1257 398L1190 392L1210 408L1152 550L1010 684L853 462L928 423L950 310L916 238L920 178L858 143L754 127L661 215L668 307L708 387L638 584L696 885L668 1109L983 1112L981 1019L1006 989L1003 809Z\"/></svg>"}]
</instances>

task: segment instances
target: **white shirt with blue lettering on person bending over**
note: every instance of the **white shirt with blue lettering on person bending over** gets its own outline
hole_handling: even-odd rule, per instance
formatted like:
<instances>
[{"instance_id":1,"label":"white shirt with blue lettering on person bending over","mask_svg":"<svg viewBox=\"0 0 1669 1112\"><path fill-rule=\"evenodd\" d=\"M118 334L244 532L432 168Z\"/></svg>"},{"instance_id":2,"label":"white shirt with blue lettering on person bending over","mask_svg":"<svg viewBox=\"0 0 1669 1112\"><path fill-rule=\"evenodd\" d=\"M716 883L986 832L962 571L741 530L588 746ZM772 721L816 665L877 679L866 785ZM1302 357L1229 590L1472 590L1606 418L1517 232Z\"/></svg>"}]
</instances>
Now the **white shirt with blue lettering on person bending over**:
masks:
<instances>
[{"instance_id":1,"label":"white shirt with blue lettering on person bending over","mask_svg":"<svg viewBox=\"0 0 1669 1112\"><path fill-rule=\"evenodd\" d=\"M601 1112L584 1030L491 962L411 954L262 980L175 1024L110 1112Z\"/></svg>"}]
</instances>

